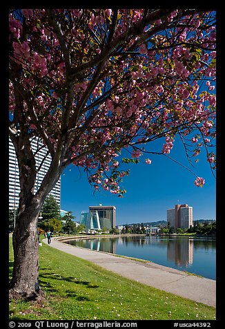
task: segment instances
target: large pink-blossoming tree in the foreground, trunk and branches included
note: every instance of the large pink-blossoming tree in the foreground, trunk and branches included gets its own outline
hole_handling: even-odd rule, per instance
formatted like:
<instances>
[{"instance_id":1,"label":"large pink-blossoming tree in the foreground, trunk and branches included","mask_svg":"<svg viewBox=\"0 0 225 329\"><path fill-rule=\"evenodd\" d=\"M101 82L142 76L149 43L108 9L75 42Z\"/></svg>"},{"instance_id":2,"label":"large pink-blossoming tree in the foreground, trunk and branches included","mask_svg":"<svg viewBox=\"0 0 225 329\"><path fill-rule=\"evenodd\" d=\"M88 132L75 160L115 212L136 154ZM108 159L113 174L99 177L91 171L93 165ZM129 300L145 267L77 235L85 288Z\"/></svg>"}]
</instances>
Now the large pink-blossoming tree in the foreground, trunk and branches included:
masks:
<instances>
[{"instance_id":1,"label":"large pink-blossoming tree in the foreground, trunk and branches included","mask_svg":"<svg viewBox=\"0 0 225 329\"><path fill-rule=\"evenodd\" d=\"M215 167L215 12L22 9L9 17L9 133L21 187L10 297L31 299L43 293L37 218L69 164L94 189L122 196L121 149L138 162L153 140L164 138L168 154L179 135L189 159L203 146ZM32 138L52 158L36 193Z\"/></svg>"}]
</instances>

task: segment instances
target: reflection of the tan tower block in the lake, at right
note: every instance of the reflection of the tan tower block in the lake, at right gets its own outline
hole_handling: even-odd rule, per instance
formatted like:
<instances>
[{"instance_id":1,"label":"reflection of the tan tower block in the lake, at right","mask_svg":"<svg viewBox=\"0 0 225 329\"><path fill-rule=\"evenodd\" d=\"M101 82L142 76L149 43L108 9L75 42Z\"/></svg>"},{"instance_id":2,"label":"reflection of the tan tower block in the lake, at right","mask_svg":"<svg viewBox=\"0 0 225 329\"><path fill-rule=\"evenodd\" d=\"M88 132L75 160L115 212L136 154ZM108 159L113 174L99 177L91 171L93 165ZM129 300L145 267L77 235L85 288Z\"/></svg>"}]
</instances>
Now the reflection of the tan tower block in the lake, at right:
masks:
<instances>
[{"instance_id":1,"label":"reflection of the tan tower block in the lake, at right","mask_svg":"<svg viewBox=\"0 0 225 329\"><path fill-rule=\"evenodd\" d=\"M191 265L193 263L193 243L192 239L180 241L169 239L167 245L167 260L173 261L177 266Z\"/></svg>"}]
</instances>

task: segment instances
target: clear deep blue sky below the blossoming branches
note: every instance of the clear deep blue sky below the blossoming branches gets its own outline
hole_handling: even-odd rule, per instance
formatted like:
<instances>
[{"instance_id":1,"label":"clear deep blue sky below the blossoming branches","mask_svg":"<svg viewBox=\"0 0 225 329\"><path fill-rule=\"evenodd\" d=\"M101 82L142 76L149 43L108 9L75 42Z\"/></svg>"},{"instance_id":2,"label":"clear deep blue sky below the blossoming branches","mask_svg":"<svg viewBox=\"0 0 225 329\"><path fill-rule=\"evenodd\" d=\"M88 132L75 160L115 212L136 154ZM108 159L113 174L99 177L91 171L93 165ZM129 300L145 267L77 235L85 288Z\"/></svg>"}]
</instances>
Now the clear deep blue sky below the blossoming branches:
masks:
<instances>
[{"instance_id":1,"label":"clear deep blue sky below the blossoming branches","mask_svg":"<svg viewBox=\"0 0 225 329\"><path fill-rule=\"evenodd\" d=\"M162 151L164 138L148 145L151 151ZM123 156L126 156L125 153ZM194 171L206 180L204 187L194 185L195 176L187 169L161 155L144 154L139 164L123 164L130 167L130 176L125 176L120 187L126 189L124 198L109 191L96 191L89 185L86 173L71 165L61 176L61 209L71 211L80 220L81 211L89 205L115 205L117 225L126 223L166 220L166 210L175 204L186 203L193 207L193 220L215 219L216 195L213 176L204 149L197 157L199 162L191 167L184 147L178 138L169 156ZM145 159L150 158L151 164ZM129 166L129 167L128 167Z\"/></svg>"}]
</instances>

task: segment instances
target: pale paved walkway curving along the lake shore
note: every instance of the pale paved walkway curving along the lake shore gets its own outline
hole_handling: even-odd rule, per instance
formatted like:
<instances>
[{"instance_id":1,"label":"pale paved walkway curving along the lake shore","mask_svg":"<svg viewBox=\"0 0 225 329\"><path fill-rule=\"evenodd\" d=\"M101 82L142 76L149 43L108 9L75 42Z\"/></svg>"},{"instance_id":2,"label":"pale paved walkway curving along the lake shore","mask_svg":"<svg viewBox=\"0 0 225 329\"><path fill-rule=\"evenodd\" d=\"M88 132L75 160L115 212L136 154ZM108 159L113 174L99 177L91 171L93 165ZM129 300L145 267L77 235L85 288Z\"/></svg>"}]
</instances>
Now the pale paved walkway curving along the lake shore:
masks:
<instances>
[{"instance_id":1,"label":"pale paved walkway curving along the lake shore","mask_svg":"<svg viewBox=\"0 0 225 329\"><path fill-rule=\"evenodd\" d=\"M86 259L128 279L133 279L209 306L215 307L216 305L215 280L188 275L171 267L148 261L144 263L126 257L113 256L105 252L75 247L58 240L60 238L52 238L50 246L81 259ZM47 243L47 239L44 239L43 242Z\"/></svg>"}]
</instances>

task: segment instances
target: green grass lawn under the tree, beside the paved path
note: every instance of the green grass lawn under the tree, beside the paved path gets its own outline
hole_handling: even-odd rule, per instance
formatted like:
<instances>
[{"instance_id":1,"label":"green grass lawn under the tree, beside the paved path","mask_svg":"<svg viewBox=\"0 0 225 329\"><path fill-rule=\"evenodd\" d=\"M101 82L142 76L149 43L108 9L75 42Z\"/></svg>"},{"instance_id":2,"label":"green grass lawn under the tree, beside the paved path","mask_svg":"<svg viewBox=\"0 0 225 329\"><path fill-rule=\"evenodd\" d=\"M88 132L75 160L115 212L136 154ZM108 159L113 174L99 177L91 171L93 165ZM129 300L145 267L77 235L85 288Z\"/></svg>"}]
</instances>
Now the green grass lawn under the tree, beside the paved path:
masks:
<instances>
[{"instance_id":1,"label":"green grass lawn under the tree, beside the paved path","mask_svg":"<svg viewBox=\"0 0 225 329\"><path fill-rule=\"evenodd\" d=\"M12 264L10 238L10 275ZM213 307L125 279L44 243L39 247L39 280L46 301L12 301L11 320L215 319Z\"/></svg>"}]
</instances>

